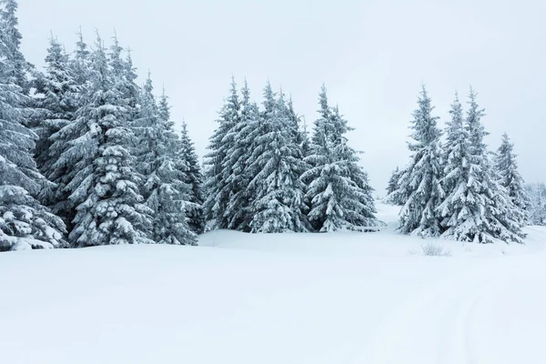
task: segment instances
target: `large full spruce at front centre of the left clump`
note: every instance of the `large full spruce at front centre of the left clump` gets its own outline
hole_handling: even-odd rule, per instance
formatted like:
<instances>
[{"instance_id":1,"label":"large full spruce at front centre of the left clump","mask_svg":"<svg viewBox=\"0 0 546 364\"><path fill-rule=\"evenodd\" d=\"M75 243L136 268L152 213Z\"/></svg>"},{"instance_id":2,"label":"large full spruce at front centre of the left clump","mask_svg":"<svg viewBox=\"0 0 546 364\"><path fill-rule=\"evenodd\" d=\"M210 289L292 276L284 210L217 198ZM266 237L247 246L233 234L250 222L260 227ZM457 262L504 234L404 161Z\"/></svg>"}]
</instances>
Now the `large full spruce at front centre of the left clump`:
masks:
<instances>
[{"instance_id":1,"label":"large full spruce at front centre of the left clump","mask_svg":"<svg viewBox=\"0 0 546 364\"><path fill-rule=\"evenodd\" d=\"M60 158L76 170L66 186L77 206L75 227L69 234L74 247L153 243L147 238L151 211L142 204L134 157L127 147L132 137L130 114L117 88L120 82L97 36L86 105L69 125L79 136Z\"/></svg>"}]
</instances>

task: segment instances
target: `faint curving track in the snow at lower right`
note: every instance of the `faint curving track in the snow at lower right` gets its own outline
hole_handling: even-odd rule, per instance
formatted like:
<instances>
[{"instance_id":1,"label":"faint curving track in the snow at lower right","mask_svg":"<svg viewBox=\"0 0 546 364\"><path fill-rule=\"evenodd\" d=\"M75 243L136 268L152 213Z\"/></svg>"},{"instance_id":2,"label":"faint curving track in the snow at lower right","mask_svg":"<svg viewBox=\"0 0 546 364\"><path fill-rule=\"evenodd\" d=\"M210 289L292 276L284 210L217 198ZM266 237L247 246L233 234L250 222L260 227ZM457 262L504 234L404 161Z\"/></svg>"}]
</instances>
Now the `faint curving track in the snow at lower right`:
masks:
<instances>
[{"instance_id":1,"label":"faint curving track in the snow at lower right","mask_svg":"<svg viewBox=\"0 0 546 364\"><path fill-rule=\"evenodd\" d=\"M461 277L450 278L399 308L372 335L354 364L474 364L474 311L498 283L507 259L495 259Z\"/></svg>"}]
</instances>

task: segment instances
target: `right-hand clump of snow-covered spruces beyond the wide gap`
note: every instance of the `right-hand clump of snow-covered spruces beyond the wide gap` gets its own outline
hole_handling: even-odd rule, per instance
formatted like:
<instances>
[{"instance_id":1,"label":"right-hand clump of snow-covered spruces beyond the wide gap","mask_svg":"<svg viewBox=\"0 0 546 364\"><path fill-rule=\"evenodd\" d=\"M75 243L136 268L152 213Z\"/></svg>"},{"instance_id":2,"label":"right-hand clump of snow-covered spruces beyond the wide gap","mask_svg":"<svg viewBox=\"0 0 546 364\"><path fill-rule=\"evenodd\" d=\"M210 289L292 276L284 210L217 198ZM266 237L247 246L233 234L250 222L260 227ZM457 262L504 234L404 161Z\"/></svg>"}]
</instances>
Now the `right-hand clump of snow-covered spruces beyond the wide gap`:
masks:
<instances>
[{"instance_id":1,"label":"right-hand clump of snow-covered spruces beyond the wide gap","mask_svg":"<svg viewBox=\"0 0 546 364\"><path fill-rule=\"evenodd\" d=\"M498 153L488 151L476 96L470 89L466 116L455 97L442 133L423 86L411 124L410 163L393 173L387 188L388 200L402 206L400 232L480 243L524 238L531 203L513 145L504 135Z\"/></svg>"}]
</instances>

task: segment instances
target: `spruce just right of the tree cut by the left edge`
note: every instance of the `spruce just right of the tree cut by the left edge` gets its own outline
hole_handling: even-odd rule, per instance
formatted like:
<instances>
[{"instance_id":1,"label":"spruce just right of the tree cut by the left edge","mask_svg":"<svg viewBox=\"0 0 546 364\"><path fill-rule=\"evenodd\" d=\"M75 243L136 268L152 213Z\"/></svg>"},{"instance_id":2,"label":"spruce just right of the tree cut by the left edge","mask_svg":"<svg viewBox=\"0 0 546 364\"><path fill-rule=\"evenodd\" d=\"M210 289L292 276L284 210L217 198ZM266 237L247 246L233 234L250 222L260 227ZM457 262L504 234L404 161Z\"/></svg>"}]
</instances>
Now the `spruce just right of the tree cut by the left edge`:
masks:
<instances>
[{"instance_id":1,"label":"spruce just right of the tree cut by the left edge","mask_svg":"<svg viewBox=\"0 0 546 364\"><path fill-rule=\"evenodd\" d=\"M51 38L47 56L45 57L45 75L36 81L35 106L39 116L35 133L38 140L35 147L35 161L40 172L55 184L51 193L45 196L45 203L52 207L60 217L66 217L62 208L66 193L62 190L64 172L55 167L66 145L60 146L56 142L56 133L74 120L78 106L79 88L76 77L69 67L69 58L62 45Z\"/></svg>"}]
</instances>

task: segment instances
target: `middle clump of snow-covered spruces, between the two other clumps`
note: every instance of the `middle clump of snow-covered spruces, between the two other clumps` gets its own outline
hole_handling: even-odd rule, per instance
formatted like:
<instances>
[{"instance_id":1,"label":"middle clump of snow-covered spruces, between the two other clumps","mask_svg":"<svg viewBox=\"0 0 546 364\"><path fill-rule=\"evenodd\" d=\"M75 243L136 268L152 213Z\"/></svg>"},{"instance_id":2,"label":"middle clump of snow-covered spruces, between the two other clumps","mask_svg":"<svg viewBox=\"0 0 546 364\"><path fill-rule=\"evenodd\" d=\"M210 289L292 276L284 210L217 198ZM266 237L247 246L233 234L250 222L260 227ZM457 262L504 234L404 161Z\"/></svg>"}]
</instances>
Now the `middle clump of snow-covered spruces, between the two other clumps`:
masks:
<instances>
[{"instance_id":1,"label":"middle clump of snow-covered spruces, between the two other clumps","mask_svg":"<svg viewBox=\"0 0 546 364\"><path fill-rule=\"evenodd\" d=\"M209 228L246 232L369 230L382 223L338 107L319 95L313 135L268 83L260 109L232 82L206 156Z\"/></svg>"}]
</instances>

